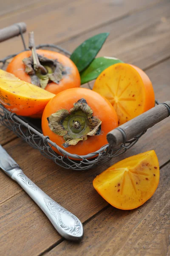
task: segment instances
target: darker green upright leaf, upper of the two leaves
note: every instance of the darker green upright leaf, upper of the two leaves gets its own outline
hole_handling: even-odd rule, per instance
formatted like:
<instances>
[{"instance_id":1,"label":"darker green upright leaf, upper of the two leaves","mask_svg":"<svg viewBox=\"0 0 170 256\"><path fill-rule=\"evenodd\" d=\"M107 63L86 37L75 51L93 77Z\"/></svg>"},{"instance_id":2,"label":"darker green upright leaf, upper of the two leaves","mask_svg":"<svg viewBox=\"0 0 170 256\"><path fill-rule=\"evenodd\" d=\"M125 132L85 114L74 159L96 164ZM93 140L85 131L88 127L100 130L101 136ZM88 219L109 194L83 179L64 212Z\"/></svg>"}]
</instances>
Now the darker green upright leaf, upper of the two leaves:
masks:
<instances>
[{"instance_id":1,"label":"darker green upright leaf, upper of the two leaves","mask_svg":"<svg viewBox=\"0 0 170 256\"><path fill-rule=\"evenodd\" d=\"M109 33L101 33L84 41L71 54L71 60L76 64L79 72L84 70L96 57L99 50L102 48Z\"/></svg>"}]
</instances>

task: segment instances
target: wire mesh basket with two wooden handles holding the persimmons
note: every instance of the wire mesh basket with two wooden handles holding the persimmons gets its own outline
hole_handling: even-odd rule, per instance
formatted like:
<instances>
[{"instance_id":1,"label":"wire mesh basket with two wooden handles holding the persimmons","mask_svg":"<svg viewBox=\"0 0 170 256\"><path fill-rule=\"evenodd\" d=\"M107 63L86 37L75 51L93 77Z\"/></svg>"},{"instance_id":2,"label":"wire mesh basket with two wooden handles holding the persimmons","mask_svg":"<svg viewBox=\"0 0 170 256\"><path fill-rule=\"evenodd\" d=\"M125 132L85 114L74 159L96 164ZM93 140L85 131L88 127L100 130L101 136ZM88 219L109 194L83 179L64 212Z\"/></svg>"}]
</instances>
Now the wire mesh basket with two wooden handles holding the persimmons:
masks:
<instances>
[{"instance_id":1,"label":"wire mesh basket with two wooden handles holding the persimmons","mask_svg":"<svg viewBox=\"0 0 170 256\"><path fill-rule=\"evenodd\" d=\"M26 31L25 23L17 23L11 27L3 29L7 31L6 37L0 38L0 41L7 40L15 35L20 35L23 41L24 50L26 49L26 44L23 38L23 32ZM15 33L14 33L15 30ZM2 31L1 31L2 32ZM13 33L13 34L12 34ZM5 33L6 34L6 33ZM53 49L54 51L61 52L66 56L70 56L70 52L58 47L54 44L41 44L36 47L37 49ZM17 53L18 54L18 53ZM0 60L1 69L6 69L6 66L11 58L13 58L17 54L8 55L6 58ZM90 84L88 84L89 89L91 89ZM156 102L156 104L159 104ZM155 107L158 108L158 107ZM153 114L157 114L159 111L159 118L156 116L155 120L150 116ZM164 113L164 114L163 114ZM108 162L113 157L117 157L120 154L123 154L127 149L131 148L142 135L146 132L147 128L153 126L155 123L160 122L162 119L166 118L170 114L170 104L165 103L159 107L159 110L154 110L154 108L150 111L145 112L142 118L142 125L136 128L136 124L141 122L141 117L136 117L133 120L130 120L126 124L129 125L121 125L119 128L114 129L108 136L110 144L103 145L98 151L93 152L91 154L85 156L79 156L76 154L70 154L64 149L60 148L59 145L56 145L52 142L49 137L44 136L41 130L41 120L40 119L31 119L23 116L17 116L15 113L11 113L2 105L0 105L0 122L14 132L18 137L22 138L26 143L28 143L31 147L37 148L42 155L53 160L59 166L62 166L66 169L75 169L75 170L87 170L91 169L96 165L103 164ZM163 116L162 116L163 115ZM145 118L145 119L144 119ZM140 121L140 122L139 122ZM128 127L127 127L128 126ZM118 133L118 134L117 134ZM57 154L51 146L57 148L62 155ZM95 157L97 155L97 157ZM72 160L76 159L76 160Z\"/></svg>"}]
</instances>

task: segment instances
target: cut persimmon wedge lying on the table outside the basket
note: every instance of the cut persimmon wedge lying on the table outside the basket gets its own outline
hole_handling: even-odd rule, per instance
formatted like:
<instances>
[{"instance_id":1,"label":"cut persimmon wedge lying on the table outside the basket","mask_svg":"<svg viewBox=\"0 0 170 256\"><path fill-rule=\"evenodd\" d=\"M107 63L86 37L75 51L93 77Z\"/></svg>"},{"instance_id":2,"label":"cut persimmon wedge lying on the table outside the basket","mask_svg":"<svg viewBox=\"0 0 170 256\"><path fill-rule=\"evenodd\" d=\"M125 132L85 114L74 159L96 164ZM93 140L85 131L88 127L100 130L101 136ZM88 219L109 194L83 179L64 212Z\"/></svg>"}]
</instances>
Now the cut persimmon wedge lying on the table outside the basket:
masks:
<instances>
[{"instance_id":1,"label":"cut persimmon wedge lying on the table outside the basket","mask_svg":"<svg viewBox=\"0 0 170 256\"><path fill-rule=\"evenodd\" d=\"M154 150L128 157L96 176L93 186L112 206L129 210L146 202L159 184L159 162Z\"/></svg>"}]
</instances>

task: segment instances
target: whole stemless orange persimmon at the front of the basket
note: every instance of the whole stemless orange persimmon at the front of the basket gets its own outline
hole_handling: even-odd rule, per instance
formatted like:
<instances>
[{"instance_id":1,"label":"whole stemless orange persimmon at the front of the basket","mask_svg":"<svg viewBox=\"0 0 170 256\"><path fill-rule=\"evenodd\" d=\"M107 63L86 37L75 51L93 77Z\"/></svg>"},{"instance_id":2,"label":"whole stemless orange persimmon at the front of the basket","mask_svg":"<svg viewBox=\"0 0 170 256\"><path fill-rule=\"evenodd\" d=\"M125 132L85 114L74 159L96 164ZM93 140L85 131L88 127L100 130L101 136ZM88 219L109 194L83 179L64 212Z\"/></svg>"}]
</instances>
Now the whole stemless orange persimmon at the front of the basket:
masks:
<instances>
[{"instance_id":1,"label":"whole stemless orange persimmon at the front of the basket","mask_svg":"<svg viewBox=\"0 0 170 256\"><path fill-rule=\"evenodd\" d=\"M42 115L43 134L69 153L78 155L89 154L108 144L106 135L117 125L111 103L86 88L58 93Z\"/></svg>"}]
</instances>

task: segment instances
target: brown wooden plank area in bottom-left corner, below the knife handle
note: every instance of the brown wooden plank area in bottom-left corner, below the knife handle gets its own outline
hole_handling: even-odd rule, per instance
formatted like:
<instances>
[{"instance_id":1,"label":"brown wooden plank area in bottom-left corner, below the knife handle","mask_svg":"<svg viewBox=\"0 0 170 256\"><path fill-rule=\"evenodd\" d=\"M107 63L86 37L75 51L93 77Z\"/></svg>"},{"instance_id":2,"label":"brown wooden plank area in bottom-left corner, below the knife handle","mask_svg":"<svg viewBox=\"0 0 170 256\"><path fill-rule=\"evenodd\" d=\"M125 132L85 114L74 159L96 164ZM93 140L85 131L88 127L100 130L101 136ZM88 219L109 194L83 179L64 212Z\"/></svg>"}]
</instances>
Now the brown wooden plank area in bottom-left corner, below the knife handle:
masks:
<instances>
[{"instance_id":1,"label":"brown wooden plank area in bottom-left corner, below the knife handle","mask_svg":"<svg viewBox=\"0 0 170 256\"><path fill-rule=\"evenodd\" d=\"M1 204L0 216L0 255L38 255L59 239L48 218L24 192Z\"/></svg>"}]
</instances>

